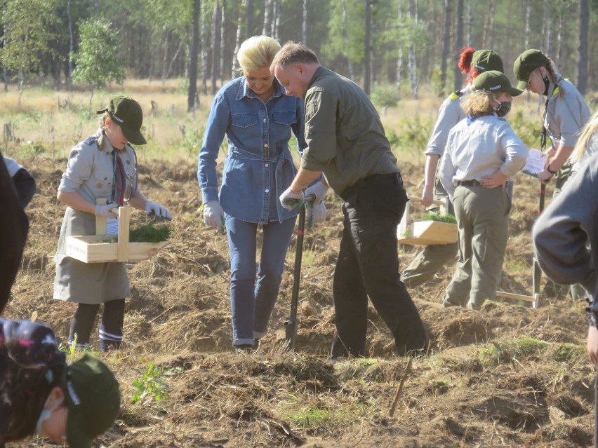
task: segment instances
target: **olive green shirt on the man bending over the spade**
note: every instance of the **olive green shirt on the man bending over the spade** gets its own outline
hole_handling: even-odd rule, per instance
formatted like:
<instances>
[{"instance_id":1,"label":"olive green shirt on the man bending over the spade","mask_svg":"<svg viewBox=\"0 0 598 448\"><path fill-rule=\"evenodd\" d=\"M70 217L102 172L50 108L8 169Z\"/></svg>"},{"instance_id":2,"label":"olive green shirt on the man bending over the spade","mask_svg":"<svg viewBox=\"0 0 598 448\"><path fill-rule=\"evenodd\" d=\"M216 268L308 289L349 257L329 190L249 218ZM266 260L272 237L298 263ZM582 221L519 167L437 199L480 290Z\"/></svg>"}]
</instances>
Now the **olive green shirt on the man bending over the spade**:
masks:
<instances>
[{"instance_id":1,"label":"olive green shirt on the man bending over the spade","mask_svg":"<svg viewBox=\"0 0 598 448\"><path fill-rule=\"evenodd\" d=\"M364 177L400 172L368 95L324 67L305 94L305 141L301 167L324 172L338 194Z\"/></svg>"}]
</instances>

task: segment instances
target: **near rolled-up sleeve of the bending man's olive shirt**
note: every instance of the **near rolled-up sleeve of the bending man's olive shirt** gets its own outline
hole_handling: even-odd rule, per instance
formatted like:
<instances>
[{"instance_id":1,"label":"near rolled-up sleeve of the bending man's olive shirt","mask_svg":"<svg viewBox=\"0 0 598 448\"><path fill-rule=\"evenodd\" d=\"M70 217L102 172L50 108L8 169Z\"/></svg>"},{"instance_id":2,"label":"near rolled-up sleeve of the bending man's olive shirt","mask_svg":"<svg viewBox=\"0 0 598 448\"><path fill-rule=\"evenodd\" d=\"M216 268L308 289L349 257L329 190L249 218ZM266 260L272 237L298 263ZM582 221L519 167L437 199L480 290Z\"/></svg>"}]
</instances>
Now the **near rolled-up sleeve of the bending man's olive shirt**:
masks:
<instances>
[{"instance_id":1,"label":"near rolled-up sleeve of the bending man's olive shirt","mask_svg":"<svg viewBox=\"0 0 598 448\"><path fill-rule=\"evenodd\" d=\"M332 95L323 90L314 90L305 98L305 142L301 167L305 170L323 171L335 158L336 106Z\"/></svg>"}]
</instances>

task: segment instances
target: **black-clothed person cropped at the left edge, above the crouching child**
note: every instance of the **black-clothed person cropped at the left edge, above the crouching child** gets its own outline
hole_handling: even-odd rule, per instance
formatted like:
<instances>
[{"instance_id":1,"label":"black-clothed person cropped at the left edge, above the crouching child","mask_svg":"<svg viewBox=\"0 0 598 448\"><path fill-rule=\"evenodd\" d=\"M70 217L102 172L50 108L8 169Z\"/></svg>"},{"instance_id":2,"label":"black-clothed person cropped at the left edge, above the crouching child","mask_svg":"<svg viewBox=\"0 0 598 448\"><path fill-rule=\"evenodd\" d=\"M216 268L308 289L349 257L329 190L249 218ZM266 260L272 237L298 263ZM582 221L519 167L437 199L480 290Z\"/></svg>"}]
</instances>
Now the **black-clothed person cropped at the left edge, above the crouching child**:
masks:
<instances>
[{"instance_id":1,"label":"black-clothed person cropped at the left edge, above the crouching child","mask_svg":"<svg viewBox=\"0 0 598 448\"><path fill-rule=\"evenodd\" d=\"M23 247L27 240L29 219L20 205L15 184L6 168L0 163L0 315L11 297L11 287L20 266Z\"/></svg>"}]
</instances>

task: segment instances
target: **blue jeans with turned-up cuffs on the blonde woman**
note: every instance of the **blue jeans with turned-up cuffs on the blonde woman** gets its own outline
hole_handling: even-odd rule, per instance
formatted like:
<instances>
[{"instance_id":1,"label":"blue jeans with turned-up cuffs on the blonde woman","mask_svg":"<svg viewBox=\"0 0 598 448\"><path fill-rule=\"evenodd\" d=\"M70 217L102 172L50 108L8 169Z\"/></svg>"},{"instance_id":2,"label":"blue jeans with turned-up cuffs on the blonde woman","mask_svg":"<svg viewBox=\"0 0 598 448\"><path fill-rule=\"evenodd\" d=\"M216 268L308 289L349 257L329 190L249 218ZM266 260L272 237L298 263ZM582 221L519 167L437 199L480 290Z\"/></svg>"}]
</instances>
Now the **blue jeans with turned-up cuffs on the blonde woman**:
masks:
<instances>
[{"instance_id":1,"label":"blue jeans with turned-up cuffs on the blonde woman","mask_svg":"<svg viewBox=\"0 0 598 448\"><path fill-rule=\"evenodd\" d=\"M266 334L276 304L295 217L263 226L262 257L255 266L258 224L226 215L230 247L232 345L253 344ZM257 281L255 280L257 276Z\"/></svg>"}]
</instances>

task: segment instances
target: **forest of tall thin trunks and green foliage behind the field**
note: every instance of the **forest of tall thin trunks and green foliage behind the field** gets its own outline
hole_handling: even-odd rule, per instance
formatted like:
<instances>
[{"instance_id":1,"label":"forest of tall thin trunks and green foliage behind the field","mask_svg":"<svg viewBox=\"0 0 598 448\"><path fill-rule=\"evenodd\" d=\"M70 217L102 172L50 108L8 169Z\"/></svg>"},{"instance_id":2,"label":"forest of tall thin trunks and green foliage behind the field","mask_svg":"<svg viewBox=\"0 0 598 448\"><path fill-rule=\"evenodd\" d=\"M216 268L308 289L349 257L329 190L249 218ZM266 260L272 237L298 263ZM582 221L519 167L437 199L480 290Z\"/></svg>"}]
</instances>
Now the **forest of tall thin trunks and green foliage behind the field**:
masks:
<instances>
[{"instance_id":1,"label":"forest of tall thin trunks and green foliage behind the field","mask_svg":"<svg viewBox=\"0 0 598 448\"><path fill-rule=\"evenodd\" d=\"M382 103L460 87L460 48L512 62L540 48L582 93L598 90L598 0L5 0L4 90L185 79L187 110L238 76L237 49L267 34L302 41ZM90 102L91 102L90 98ZM386 104L383 104L386 105Z\"/></svg>"}]
</instances>

